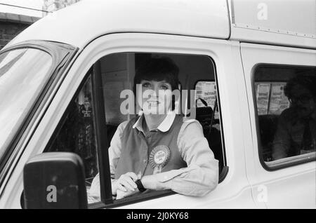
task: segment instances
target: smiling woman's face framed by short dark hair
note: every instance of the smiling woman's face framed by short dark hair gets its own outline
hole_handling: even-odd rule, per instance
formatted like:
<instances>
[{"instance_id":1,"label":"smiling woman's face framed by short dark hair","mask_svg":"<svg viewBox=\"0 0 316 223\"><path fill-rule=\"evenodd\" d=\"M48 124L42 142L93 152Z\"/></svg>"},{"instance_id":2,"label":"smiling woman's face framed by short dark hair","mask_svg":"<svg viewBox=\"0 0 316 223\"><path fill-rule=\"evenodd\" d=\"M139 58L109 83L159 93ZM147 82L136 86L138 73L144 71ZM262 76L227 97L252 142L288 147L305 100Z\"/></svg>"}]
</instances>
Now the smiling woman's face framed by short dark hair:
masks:
<instances>
[{"instance_id":1,"label":"smiling woman's face framed by short dark hair","mask_svg":"<svg viewBox=\"0 0 316 223\"><path fill-rule=\"evenodd\" d=\"M171 110L172 88L166 81L140 81L138 105L145 114L167 114Z\"/></svg>"}]
</instances>

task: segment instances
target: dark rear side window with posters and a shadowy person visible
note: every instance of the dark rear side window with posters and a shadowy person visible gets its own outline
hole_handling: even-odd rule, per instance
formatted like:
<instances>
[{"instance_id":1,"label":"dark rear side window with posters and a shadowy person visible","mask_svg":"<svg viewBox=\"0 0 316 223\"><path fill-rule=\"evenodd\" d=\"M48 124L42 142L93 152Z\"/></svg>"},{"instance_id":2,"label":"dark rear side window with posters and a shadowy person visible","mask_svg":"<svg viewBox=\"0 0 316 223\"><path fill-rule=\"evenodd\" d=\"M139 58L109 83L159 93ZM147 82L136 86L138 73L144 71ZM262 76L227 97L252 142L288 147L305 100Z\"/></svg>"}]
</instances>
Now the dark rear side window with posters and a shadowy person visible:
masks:
<instances>
[{"instance_id":1,"label":"dark rear side window with posters and a shadowy person visible","mask_svg":"<svg viewBox=\"0 0 316 223\"><path fill-rule=\"evenodd\" d=\"M266 168L315 160L316 69L261 65L254 72L258 147Z\"/></svg>"}]
</instances>

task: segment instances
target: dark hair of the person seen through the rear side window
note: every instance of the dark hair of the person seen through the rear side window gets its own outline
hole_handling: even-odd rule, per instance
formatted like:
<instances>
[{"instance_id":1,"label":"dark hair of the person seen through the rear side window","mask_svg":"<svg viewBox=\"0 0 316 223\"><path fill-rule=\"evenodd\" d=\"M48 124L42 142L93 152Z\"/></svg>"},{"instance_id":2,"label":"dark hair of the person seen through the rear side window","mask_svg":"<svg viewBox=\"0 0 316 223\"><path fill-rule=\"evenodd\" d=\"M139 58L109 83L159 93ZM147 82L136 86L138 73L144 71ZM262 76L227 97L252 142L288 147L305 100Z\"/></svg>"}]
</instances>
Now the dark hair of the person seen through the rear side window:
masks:
<instances>
[{"instance_id":1,"label":"dark hair of the person seen through the rear side window","mask_svg":"<svg viewBox=\"0 0 316 223\"><path fill-rule=\"evenodd\" d=\"M294 86L302 86L310 90L312 97L316 99L316 76L298 75L290 79L284 87L284 95L291 98L291 90Z\"/></svg>"}]
</instances>

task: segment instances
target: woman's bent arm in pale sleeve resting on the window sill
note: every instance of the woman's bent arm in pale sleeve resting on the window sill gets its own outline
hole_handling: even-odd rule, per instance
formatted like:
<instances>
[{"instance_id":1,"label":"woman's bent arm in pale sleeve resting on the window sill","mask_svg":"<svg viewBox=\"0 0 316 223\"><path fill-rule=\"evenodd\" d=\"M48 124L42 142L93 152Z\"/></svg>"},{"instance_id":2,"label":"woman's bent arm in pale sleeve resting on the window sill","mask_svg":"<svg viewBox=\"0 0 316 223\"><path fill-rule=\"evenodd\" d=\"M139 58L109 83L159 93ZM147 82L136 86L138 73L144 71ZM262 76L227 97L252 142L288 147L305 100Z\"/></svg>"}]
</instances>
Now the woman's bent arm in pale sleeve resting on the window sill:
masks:
<instances>
[{"instance_id":1,"label":"woman's bent arm in pale sleeve resting on the window sill","mask_svg":"<svg viewBox=\"0 0 316 223\"><path fill-rule=\"evenodd\" d=\"M171 189L188 196L204 196L218 184L218 161L209 148L198 121L186 121L178 135L178 147L187 168L144 176L146 189Z\"/></svg>"}]
</instances>

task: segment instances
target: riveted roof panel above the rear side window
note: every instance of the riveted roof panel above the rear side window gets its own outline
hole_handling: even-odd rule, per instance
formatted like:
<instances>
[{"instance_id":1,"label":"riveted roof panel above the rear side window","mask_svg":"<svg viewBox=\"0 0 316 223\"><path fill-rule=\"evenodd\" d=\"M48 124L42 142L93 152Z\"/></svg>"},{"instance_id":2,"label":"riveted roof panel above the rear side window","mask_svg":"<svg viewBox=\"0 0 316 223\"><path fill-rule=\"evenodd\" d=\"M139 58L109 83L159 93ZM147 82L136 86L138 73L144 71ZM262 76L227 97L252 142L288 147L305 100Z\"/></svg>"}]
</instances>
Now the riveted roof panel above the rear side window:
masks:
<instances>
[{"instance_id":1,"label":"riveted roof panel above the rear side window","mask_svg":"<svg viewBox=\"0 0 316 223\"><path fill-rule=\"evenodd\" d=\"M316 1L228 1L230 39L316 48Z\"/></svg>"}]
</instances>

